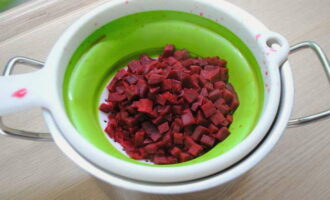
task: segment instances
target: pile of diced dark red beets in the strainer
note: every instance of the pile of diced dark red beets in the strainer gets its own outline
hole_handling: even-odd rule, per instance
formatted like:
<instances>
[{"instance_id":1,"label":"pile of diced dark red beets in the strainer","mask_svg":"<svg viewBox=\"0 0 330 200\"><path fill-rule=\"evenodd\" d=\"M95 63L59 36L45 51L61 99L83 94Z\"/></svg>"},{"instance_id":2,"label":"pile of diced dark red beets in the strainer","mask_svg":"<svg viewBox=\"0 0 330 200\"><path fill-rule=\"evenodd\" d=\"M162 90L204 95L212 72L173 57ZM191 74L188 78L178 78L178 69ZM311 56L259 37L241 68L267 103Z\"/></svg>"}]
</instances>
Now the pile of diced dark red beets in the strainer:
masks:
<instances>
[{"instance_id":1,"label":"pile of diced dark red beets in the strainer","mask_svg":"<svg viewBox=\"0 0 330 200\"><path fill-rule=\"evenodd\" d=\"M106 133L133 159L155 164L191 160L225 140L239 105L225 60L173 45L158 59L132 60L107 89Z\"/></svg>"}]
</instances>

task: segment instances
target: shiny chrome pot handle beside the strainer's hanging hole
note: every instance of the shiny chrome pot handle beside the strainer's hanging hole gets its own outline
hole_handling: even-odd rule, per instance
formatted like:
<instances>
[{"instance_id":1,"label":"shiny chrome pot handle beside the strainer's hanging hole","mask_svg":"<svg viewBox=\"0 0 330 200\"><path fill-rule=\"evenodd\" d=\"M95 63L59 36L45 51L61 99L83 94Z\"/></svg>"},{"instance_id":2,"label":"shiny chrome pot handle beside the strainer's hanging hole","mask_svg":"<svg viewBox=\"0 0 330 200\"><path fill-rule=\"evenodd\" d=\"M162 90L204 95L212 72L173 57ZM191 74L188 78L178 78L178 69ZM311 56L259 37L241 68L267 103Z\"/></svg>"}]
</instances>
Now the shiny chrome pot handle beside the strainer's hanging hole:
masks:
<instances>
[{"instance_id":1,"label":"shiny chrome pot handle beside the strainer's hanging hole","mask_svg":"<svg viewBox=\"0 0 330 200\"><path fill-rule=\"evenodd\" d=\"M298 43L291 47L290 54L295 53L296 51L299 51L300 49L305 49L305 48L311 48L316 53L317 57L321 61L323 69L327 75L328 81L330 82L329 60L328 60L327 56L325 55L325 53L323 52L322 48L318 44L316 44L315 42L312 42L312 41ZM320 112L320 113L315 113L315 114L312 114L309 116L300 117L297 119L290 119L288 126L302 125L302 124L317 121L317 120L320 120L320 119L323 119L323 118L326 118L329 116L330 116L330 109Z\"/></svg>"}]
</instances>

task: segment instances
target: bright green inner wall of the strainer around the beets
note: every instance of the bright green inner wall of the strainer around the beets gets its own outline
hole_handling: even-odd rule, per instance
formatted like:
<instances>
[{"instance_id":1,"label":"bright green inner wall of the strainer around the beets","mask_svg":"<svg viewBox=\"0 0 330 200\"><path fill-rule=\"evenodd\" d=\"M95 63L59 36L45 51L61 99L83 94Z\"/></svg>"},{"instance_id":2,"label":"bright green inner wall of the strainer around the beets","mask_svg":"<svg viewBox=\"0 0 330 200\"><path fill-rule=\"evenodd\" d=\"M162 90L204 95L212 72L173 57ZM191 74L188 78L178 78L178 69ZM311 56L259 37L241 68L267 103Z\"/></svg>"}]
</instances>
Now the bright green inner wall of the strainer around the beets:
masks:
<instances>
[{"instance_id":1,"label":"bright green inner wall of the strainer around the beets","mask_svg":"<svg viewBox=\"0 0 330 200\"><path fill-rule=\"evenodd\" d=\"M118 69L141 53L158 56L166 44L185 48L195 56L219 56L227 60L229 82L238 93L240 106L233 116L231 135L225 141L191 161L154 165L127 157L109 142L100 125L98 104L102 91ZM215 158L244 140L260 117L264 87L254 55L224 26L185 12L148 11L111 21L81 43L65 72L63 100L77 131L103 152L134 164L176 167Z\"/></svg>"}]
</instances>

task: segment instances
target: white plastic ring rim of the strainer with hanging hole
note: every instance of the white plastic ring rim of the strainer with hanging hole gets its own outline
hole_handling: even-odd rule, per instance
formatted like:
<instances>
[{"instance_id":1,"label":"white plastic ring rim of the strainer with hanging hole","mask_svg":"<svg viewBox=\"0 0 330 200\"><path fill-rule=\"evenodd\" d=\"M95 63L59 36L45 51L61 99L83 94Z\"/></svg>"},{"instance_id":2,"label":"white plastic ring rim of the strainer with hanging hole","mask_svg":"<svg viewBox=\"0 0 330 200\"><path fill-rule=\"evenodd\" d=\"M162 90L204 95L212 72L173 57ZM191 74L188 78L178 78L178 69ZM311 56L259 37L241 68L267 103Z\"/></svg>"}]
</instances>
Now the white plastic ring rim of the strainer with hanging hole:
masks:
<instances>
[{"instance_id":1,"label":"white plastic ring rim of the strainer with hanging hole","mask_svg":"<svg viewBox=\"0 0 330 200\"><path fill-rule=\"evenodd\" d=\"M286 41L278 34L268 31L251 15L225 1L130 0L128 4L125 2L124 0L110 1L83 16L62 35L52 49L45 70L48 73L47 79L50 83L49 91L51 91L47 96L50 105L48 109L50 109L56 126L59 128L59 131L53 132L53 136L65 138L89 162L109 173L151 182L180 182L205 177L230 167L251 152L265 136L277 113L281 88L278 68L279 63L286 58L288 52ZM113 19L135 12L159 9L179 10L195 14L204 13L204 17L220 20L221 24L239 36L255 54L261 66L265 83L271 87L265 89L265 102L260 123L243 142L217 158L194 165L176 167L175 170L128 163L100 151L81 137L72 126L62 102L64 71L71 55L83 39L99 26ZM260 37L256 37L257 35ZM268 38L277 38L281 41L282 48L265 56L265 53L270 50L266 45ZM79 162L77 164L80 165Z\"/></svg>"}]
</instances>

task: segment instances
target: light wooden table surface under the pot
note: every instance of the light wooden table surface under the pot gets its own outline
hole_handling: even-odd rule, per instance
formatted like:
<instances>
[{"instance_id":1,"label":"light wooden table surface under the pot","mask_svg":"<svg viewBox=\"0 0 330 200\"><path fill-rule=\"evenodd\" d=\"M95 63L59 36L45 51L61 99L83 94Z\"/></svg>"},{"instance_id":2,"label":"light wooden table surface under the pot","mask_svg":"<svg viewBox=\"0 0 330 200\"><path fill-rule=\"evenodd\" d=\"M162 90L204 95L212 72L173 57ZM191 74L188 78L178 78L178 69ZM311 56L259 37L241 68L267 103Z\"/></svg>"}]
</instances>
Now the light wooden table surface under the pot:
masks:
<instances>
[{"instance_id":1,"label":"light wooden table surface under the pot","mask_svg":"<svg viewBox=\"0 0 330 200\"><path fill-rule=\"evenodd\" d=\"M73 21L105 0L32 0L0 13L0 70L17 55L45 60ZM330 55L329 0L232 0L291 44L318 42ZM330 108L330 88L310 51L290 56L293 116ZM30 69L17 69L17 73ZM0 100L1 103L1 100ZM38 108L5 123L47 131ZM233 184L195 194L147 195L109 187L77 167L51 142L0 137L0 199L330 199L330 119L288 128L272 152Z\"/></svg>"}]
</instances>

